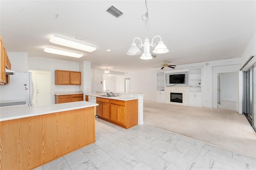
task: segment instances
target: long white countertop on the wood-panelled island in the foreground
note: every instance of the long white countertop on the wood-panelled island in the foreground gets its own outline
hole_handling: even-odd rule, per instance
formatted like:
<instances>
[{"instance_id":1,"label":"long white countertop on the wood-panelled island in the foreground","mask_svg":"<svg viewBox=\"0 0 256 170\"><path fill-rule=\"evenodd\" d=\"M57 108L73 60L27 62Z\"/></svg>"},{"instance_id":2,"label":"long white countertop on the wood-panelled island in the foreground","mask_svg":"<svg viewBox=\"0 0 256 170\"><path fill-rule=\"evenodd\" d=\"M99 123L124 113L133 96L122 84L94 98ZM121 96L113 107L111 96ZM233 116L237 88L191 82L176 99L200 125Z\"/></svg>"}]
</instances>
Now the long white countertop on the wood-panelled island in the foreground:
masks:
<instances>
[{"instance_id":1,"label":"long white countertop on the wood-panelled island in the foreground","mask_svg":"<svg viewBox=\"0 0 256 170\"><path fill-rule=\"evenodd\" d=\"M93 106L98 106L98 104L87 102L87 101L77 101L77 102L60 103L60 104L47 105L47 106L38 106L38 107L27 107L26 105L0 107L0 121L8 121L12 119L38 116L38 115L44 115L48 113L68 111L68 110L74 110L74 109L82 109L82 108L93 107Z\"/></svg>"}]
</instances>

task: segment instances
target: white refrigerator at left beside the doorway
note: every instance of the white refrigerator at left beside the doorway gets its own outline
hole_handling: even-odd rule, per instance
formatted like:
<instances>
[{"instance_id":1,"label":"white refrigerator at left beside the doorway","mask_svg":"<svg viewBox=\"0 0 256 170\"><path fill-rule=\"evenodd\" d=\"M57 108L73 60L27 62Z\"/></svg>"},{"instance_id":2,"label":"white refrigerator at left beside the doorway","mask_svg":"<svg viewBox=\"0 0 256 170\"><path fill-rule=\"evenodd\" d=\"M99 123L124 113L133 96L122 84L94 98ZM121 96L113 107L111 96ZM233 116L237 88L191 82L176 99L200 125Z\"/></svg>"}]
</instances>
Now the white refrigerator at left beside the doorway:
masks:
<instances>
[{"instance_id":1,"label":"white refrigerator at left beside the doorway","mask_svg":"<svg viewBox=\"0 0 256 170\"><path fill-rule=\"evenodd\" d=\"M15 73L10 75L8 85L0 85L0 101L25 100L32 105L33 81L32 73Z\"/></svg>"}]
</instances>

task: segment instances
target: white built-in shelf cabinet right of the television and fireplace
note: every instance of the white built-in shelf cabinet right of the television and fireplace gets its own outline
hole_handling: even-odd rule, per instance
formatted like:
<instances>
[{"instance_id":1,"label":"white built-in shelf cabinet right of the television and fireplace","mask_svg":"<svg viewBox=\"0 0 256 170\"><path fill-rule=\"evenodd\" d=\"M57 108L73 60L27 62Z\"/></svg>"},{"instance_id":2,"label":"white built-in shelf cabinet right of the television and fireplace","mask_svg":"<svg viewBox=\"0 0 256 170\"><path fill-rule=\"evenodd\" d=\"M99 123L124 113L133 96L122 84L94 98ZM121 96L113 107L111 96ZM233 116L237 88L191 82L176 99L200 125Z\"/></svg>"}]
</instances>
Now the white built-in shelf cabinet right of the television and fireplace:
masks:
<instances>
[{"instance_id":1,"label":"white built-in shelf cabinet right of the television and fireplace","mask_svg":"<svg viewBox=\"0 0 256 170\"><path fill-rule=\"evenodd\" d=\"M202 68L189 70L189 105L202 107Z\"/></svg>"}]
</instances>

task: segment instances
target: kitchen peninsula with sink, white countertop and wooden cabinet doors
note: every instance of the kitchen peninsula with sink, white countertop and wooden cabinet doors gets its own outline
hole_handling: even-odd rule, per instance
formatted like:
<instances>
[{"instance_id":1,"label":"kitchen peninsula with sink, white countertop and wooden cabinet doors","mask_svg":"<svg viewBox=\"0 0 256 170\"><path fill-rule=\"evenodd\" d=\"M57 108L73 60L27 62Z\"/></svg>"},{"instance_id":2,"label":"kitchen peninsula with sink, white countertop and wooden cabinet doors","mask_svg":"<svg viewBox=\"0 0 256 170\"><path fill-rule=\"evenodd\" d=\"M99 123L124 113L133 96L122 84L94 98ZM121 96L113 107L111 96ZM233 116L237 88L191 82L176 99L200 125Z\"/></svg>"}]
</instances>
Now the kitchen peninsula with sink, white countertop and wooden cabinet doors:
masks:
<instances>
[{"instance_id":1,"label":"kitchen peninsula with sink, white countertop and wooden cabinet doors","mask_svg":"<svg viewBox=\"0 0 256 170\"><path fill-rule=\"evenodd\" d=\"M110 91L93 91L86 94L88 97L95 97L99 106L96 113L99 118L130 128L134 125L143 125L143 96L144 93L112 92L115 97L105 96ZM114 95L113 94L113 95ZM135 122L136 121L136 122Z\"/></svg>"}]
</instances>

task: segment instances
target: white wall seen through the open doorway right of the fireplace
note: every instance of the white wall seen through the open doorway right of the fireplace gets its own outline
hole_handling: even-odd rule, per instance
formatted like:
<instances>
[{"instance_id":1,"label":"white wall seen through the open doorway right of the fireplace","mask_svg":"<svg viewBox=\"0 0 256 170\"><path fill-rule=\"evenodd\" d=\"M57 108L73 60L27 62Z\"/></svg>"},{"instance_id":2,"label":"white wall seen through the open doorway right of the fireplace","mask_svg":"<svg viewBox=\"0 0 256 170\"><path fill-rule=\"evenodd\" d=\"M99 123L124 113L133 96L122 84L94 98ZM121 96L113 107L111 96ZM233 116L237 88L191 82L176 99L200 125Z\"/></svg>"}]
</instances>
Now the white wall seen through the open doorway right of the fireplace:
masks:
<instances>
[{"instance_id":1,"label":"white wall seen through the open doorway right of the fireplace","mask_svg":"<svg viewBox=\"0 0 256 170\"><path fill-rule=\"evenodd\" d=\"M220 94L222 101L236 101L238 95L238 72L220 73Z\"/></svg>"}]
</instances>

